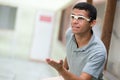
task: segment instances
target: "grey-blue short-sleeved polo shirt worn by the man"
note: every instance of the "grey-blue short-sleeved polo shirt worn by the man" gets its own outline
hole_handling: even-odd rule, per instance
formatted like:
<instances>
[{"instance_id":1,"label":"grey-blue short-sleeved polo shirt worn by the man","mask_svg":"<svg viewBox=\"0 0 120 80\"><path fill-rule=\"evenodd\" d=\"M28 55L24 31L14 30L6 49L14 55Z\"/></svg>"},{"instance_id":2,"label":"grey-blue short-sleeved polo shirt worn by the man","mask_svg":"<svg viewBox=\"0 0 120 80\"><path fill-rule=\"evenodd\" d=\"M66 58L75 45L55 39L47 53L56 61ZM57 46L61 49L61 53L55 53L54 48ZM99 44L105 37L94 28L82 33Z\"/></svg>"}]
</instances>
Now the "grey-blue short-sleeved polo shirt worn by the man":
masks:
<instances>
[{"instance_id":1,"label":"grey-blue short-sleeved polo shirt worn by the man","mask_svg":"<svg viewBox=\"0 0 120 80\"><path fill-rule=\"evenodd\" d=\"M94 34L87 45L77 48L71 29L66 32L67 61L70 72L80 76L86 72L92 80L103 80L103 69L106 61L106 49L102 41Z\"/></svg>"}]
</instances>

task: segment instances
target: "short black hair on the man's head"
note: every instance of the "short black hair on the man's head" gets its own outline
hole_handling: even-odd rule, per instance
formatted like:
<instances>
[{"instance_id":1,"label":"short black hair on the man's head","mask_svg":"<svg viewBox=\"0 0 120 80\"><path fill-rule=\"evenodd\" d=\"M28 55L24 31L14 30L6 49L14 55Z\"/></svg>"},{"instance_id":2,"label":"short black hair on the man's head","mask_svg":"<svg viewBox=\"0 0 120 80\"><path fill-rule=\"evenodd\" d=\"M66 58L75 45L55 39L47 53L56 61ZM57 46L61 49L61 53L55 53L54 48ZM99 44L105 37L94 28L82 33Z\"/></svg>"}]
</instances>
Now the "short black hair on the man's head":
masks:
<instances>
[{"instance_id":1,"label":"short black hair on the man's head","mask_svg":"<svg viewBox=\"0 0 120 80\"><path fill-rule=\"evenodd\" d=\"M73 6L72 9L79 9L79 10L88 11L89 12L88 16L90 17L90 21L96 20L97 10L93 5L91 5L91 4L87 3L87 2L77 3L75 6Z\"/></svg>"}]
</instances>

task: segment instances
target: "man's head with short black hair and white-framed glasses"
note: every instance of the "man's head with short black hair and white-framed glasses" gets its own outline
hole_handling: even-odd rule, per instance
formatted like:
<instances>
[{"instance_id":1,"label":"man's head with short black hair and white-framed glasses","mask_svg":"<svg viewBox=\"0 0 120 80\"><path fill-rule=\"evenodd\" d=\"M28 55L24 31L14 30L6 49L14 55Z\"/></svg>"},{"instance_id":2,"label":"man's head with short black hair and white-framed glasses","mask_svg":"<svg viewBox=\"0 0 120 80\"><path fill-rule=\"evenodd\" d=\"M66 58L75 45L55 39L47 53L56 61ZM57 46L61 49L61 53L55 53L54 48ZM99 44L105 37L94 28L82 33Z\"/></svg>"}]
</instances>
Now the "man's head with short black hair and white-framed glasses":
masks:
<instances>
[{"instance_id":1,"label":"man's head with short black hair and white-framed glasses","mask_svg":"<svg viewBox=\"0 0 120 80\"><path fill-rule=\"evenodd\" d=\"M75 34L85 34L96 23L97 10L89 3L77 3L71 12L71 27Z\"/></svg>"}]
</instances>

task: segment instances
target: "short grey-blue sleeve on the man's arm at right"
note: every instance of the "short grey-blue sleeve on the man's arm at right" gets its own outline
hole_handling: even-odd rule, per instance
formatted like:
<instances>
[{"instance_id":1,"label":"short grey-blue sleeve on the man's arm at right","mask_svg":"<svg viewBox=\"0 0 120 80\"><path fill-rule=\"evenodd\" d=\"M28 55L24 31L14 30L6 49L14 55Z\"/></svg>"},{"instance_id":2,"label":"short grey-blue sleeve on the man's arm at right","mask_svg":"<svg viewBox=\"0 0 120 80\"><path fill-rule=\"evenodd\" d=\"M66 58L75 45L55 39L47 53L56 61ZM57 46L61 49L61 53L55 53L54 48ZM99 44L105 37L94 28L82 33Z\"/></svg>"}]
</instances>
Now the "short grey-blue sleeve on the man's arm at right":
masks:
<instances>
[{"instance_id":1,"label":"short grey-blue sleeve on the man's arm at right","mask_svg":"<svg viewBox=\"0 0 120 80\"><path fill-rule=\"evenodd\" d=\"M91 56L86 63L85 67L83 68L82 72L86 72L90 75L92 75L95 78L98 78L99 75L102 73L104 69L104 64L106 61L104 52L96 52L94 56ZM101 55L102 54L102 55Z\"/></svg>"}]
</instances>

